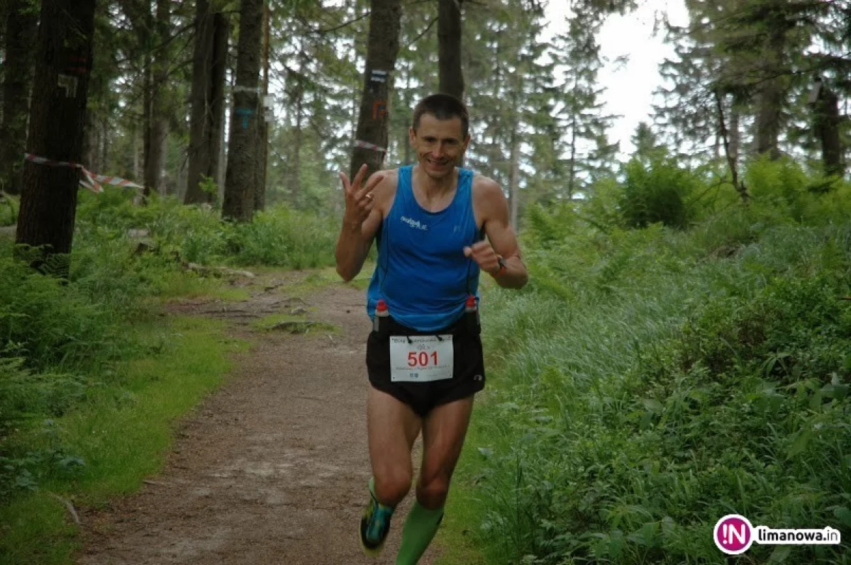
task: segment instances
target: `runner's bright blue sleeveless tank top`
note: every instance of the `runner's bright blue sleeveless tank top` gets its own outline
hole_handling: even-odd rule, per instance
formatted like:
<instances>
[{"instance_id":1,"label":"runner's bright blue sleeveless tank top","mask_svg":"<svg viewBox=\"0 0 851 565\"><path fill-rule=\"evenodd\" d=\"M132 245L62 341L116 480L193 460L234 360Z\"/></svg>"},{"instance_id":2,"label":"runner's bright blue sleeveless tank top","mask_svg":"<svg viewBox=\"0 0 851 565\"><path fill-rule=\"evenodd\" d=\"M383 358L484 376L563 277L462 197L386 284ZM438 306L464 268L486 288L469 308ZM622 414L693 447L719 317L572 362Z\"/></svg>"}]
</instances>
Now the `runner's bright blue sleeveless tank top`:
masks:
<instances>
[{"instance_id":1,"label":"runner's bright blue sleeveless tank top","mask_svg":"<svg viewBox=\"0 0 851 565\"><path fill-rule=\"evenodd\" d=\"M470 169L461 168L452 203L429 212L414 197L412 166L399 168L396 197L376 236L378 265L367 291L367 312L384 299L391 316L408 328L431 332L464 315L477 296L479 268L464 256L481 239L473 215Z\"/></svg>"}]
</instances>

